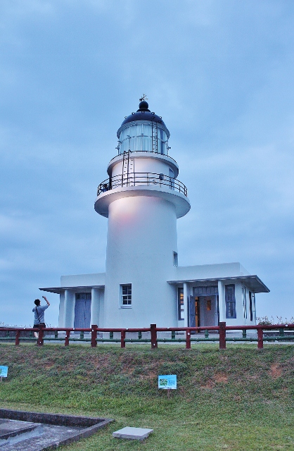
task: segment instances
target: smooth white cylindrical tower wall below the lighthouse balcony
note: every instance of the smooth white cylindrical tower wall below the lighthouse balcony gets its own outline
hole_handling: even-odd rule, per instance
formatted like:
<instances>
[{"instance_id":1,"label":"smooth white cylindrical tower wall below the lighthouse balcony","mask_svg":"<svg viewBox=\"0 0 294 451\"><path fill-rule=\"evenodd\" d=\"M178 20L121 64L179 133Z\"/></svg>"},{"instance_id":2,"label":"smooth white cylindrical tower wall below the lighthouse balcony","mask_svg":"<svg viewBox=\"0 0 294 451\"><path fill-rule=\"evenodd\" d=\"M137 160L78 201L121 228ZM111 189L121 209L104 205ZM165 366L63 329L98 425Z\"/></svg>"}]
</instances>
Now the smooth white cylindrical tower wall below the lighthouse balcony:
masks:
<instances>
[{"instance_id":1,"label":"smooth white cylindrical tower wall below the lighthouse balcony","mask_svg":"<svg viewBox=\"0 0 294 451\"><path fill-rule=\"evenodd\" d=\"M177 326L177 293L167 280L177 252L177 216L158 197L124 197L108 212L105 327ZM120 306L120 285L132 283L132 308Z\"/></svg>"}]
</instances>

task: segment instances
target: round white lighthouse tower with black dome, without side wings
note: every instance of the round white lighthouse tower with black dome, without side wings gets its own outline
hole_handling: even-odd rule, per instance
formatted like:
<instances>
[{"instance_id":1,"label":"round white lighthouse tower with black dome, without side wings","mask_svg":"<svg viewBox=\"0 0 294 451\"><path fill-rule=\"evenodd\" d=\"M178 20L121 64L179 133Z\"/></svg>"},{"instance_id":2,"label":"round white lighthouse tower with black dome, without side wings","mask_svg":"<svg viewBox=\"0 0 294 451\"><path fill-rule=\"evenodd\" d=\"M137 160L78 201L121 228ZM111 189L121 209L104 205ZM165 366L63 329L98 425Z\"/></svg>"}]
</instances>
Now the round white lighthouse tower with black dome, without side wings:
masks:
<instances>
[{"instance_id":1,"label":"round white lighthouse tower with black dome, without side wings","mask_svg":"<svg viewBox=\"0 0 294 451\"><path fill-rule=\"evenodd\" d=\"M190 209L170 132L140 99L119 130L118 155L98 186L95 210L108 218L104 327L177 326L177 218Z\"/></svg>"}]
</instances>

